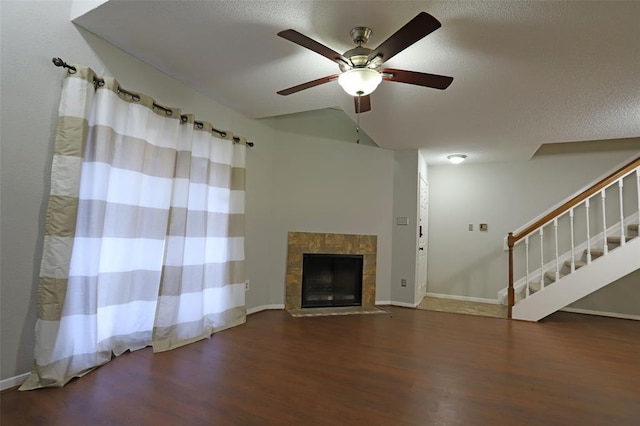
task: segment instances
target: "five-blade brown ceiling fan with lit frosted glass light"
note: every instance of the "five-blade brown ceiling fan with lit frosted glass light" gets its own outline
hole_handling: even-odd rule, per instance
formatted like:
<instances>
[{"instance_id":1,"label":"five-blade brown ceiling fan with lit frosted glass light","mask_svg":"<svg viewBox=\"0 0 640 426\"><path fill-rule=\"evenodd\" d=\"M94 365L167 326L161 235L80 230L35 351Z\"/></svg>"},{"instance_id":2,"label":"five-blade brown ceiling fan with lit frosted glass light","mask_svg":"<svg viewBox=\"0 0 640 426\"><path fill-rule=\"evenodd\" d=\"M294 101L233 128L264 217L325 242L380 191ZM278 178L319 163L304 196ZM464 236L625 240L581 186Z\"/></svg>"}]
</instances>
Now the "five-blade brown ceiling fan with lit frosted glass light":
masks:
<instances>
[{"instance_id":1,"label":"five-blade brown ceiling fan with lit frosted glass light","mask_svg":"<svg viewBox=\"0 0 640 426\"><path fill-rule=\"evenodd\" d=\"M373 50L364 47L371 36L371 29L355 27L351 30L351 38L357 46L346 51L343 55L296 30L280 31L278 33L280 37L306 47L337 63L342 73L308 81L280 90L277 93L286 96L337 79L345 92L354 97L356 114L359 114L371 110L371 98L369 95L382 80L444 90L449 87L453 77L393 68L381 69L382 64L441 26L436 18L426 12L420 12Z\"/></svg>"}]
</instances>

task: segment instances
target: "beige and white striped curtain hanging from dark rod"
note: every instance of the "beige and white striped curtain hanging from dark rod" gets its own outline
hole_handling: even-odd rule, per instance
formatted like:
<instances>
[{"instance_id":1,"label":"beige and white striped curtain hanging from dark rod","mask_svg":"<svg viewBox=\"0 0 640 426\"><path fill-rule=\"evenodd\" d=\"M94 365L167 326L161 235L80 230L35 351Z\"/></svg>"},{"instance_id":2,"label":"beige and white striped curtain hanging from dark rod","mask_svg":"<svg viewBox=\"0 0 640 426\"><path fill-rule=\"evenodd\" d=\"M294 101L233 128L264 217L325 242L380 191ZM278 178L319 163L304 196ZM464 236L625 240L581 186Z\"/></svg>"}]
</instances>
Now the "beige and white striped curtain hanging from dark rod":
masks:
<instances>
[{"instance_id":1,"label":"beige and white striped curtain hanging from dark rod","mask_svg":"<svg viewBox=\"0 0 640 426\"><path fill-rule=\"evenodd\" d=\"M21 390L245 322L246 141L76 69L63 82Z\"/></svg>"}]
</instances>

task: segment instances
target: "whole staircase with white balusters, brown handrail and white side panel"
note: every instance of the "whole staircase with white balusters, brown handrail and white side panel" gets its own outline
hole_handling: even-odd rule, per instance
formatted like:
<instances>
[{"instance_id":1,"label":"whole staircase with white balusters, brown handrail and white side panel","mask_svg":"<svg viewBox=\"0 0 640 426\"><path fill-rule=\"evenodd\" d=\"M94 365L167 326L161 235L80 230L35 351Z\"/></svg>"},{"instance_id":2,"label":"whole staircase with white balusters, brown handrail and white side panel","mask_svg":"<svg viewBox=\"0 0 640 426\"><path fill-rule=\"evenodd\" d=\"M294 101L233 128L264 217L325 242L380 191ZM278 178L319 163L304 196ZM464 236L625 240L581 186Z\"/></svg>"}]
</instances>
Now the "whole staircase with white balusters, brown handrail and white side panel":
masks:
<instances>
[{"instance_id":1,"label":"whole staircase with white balusters, brown handrail and white side panel","mask_svg":"<svg viewBox=\"0 0 640 426\"><path fill-rule=\"evenodd\" d=\"M608 225L607 217L616 223ZM502 292L509 317L538 321L640 269L639 223L637 158L509 233L509 287ZM514 282L515 274L520 278Z\"/></svg>"}]
</instances>

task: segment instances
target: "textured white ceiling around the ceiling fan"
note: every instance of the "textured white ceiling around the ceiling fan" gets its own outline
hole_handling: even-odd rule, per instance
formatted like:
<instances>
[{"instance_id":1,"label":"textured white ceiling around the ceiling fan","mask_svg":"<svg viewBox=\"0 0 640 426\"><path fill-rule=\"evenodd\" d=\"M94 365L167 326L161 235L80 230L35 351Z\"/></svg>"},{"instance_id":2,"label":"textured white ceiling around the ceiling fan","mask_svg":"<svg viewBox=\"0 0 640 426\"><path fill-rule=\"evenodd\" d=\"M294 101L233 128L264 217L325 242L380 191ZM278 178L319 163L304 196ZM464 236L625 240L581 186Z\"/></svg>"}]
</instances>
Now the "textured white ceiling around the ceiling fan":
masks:
<instances>
[{"instance_id":1,"label":"textured white ceiling around the ceiling fan","mask_svg":"<svg viewBox=\"0 0 640 426\"><path fill-rule=\"evenodd\" d=\"M351 28L368 26L374 48L421 11L442 27L385 66L454 81L383 82L360 118L379 146L420 148L438 164L640 136L640 2L112 0L74 22L248 117L338 107L355 121L337 82L276 94L338 72L276 34L292 28L342 53Z\"/></svg>"}]
</instances>

